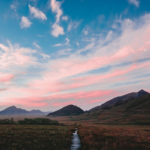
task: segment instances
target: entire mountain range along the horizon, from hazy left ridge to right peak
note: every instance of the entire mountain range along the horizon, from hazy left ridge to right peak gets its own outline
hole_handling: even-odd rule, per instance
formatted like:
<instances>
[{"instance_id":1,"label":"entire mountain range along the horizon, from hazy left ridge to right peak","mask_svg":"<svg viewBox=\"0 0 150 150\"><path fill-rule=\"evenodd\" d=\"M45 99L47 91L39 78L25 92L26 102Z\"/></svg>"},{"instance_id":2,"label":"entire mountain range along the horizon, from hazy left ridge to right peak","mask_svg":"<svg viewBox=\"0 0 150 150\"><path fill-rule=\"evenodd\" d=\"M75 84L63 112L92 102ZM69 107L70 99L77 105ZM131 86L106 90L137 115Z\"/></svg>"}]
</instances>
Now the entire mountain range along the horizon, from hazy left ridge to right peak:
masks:
<instances>
[{"instance_id":1,"label":"entire mountain range along the horizon, from hazy left ridge to right peak","mask_svg":"<svg viewBox=\"0 0 150 150\"><path fill-rule=\"evenodd\" d=\"M47 116L74 116L78 120L97 119L99 123L144 122L150 118L150 93L140 90L115 97L89 111L83 111L75 105L65 106L55 112L40 110L27 111L11 106L0 115L47 115Z\"/></svg>"}]
</instances>

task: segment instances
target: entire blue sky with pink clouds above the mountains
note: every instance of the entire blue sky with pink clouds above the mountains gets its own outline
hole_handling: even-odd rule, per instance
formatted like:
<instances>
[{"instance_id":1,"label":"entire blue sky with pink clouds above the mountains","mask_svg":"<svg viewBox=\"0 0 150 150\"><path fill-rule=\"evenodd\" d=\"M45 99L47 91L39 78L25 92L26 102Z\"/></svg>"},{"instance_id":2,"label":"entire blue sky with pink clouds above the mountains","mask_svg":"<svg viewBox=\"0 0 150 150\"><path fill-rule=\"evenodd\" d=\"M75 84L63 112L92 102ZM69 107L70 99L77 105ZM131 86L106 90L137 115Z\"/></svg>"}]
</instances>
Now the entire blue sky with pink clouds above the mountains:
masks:
<instances>
[{"instance_id":1,"label":"entire blue sky with pink clouds above the mountains","mask_svg":"<svg viewBox=\"0 0 150 150\"><path fill-rule=\"evenodd\" d=\"M150 92L150 0L0 0L0 110L83 110Z\"/></svg>"}]
</instances>

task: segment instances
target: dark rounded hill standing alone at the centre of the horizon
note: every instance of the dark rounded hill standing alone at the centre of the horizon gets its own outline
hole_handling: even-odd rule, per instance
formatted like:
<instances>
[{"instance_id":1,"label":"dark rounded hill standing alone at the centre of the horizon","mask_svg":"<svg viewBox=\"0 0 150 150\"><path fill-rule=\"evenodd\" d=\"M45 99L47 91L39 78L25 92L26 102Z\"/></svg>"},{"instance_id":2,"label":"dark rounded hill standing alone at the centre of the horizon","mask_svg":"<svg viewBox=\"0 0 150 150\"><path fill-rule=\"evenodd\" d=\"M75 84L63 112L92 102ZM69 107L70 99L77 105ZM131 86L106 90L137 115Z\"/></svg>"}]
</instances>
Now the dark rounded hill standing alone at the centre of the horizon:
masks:
<instances>
[{"instance_id":1,"label":"dark rounded hill standing alone at the centre of the horizon","mask_svg":"<svg viewBox=\"0 0 150 150\"><path fill-rule=\"evenodd\" d=\"M84 111L74 105L65 106L53 113L49 113L47 116L69 116L69 115L80 115L83 114Z\"/></svg>"}]
</instances>

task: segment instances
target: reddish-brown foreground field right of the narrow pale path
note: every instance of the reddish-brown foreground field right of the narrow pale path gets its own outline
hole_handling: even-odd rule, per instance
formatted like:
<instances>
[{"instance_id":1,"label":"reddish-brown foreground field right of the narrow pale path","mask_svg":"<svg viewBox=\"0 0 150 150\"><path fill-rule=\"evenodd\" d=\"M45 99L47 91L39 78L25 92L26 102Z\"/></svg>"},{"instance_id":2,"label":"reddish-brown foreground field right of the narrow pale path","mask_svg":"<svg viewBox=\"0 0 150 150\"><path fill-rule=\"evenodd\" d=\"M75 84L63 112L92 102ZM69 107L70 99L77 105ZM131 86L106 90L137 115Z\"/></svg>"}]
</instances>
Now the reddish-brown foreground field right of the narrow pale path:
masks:
<instances>
[{"instance_id":1,"label":"reddish-brown foreground field right of the narrow pale path","mask_svg":"<svg viewBox=\"0 0 150 150\"><path fill-rule=\"evenodd\" d=\"M149 150L149 129L121 126L79 127L80 150Z\"/></svg>"}]
</instances>

